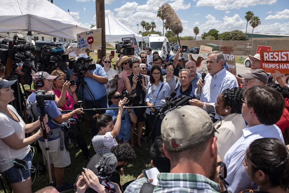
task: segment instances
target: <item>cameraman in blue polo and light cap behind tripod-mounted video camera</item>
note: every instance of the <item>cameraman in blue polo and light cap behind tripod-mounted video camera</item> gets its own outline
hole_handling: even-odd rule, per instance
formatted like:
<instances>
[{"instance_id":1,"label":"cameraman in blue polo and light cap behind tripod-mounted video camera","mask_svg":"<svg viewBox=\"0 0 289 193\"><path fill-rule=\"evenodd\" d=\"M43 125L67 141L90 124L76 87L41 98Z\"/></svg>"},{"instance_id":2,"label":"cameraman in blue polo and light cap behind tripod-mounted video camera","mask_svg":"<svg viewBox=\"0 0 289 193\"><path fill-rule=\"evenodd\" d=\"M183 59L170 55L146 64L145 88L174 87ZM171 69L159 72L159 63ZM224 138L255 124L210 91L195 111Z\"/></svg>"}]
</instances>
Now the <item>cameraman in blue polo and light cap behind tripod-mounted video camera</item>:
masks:
<instances>
[{"instance_id":1,"label":"cameraman in blue polo and light cap behind tripod-mounted video camera","mask_svg":"<svg viewBox=\"0 0 289 193\"><path fill-rule=\"evenodd\" d=\"M90 56L86 54L80 54L77 58L89 58ZM84 64L89 65L89 63L85 62ZM90 70L85 73L84 75L84 82L86 82L87 87L92 92L93 97L90 96L89 91L86 88L80 88L78 95L78 99L85 100L85 106L89 108L107 108L108 107L108 100L106 97L106 89L105 85L108 82L107 75L101 65L95 64L96 69L95 70ZM70 80L78 80L76 78L76 75L73 74L73 76L70 77ZM85 83L84 83L85 84ZM83 92L82 92L83 91ZM96 100L96 104L95 101ZM95 121L93 120L93 116L96 114L95 111L87 111L87 115L89 117L90 125L91 125L91 134L92 136L95 136L97 134L97 129L96 129L96 124Z\"/></svg>"}]
</instances>

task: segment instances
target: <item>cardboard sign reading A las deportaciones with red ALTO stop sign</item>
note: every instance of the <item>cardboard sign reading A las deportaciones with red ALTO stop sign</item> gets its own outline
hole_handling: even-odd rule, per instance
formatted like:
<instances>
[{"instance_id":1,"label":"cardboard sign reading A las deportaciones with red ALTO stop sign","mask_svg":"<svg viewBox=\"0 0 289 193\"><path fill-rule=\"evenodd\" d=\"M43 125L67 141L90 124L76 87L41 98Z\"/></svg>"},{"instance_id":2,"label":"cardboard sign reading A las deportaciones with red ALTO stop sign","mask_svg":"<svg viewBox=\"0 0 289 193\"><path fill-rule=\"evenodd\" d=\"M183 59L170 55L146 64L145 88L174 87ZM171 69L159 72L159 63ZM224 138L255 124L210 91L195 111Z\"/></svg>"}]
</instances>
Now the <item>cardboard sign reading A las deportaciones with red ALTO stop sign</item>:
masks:
<instances>
[{"instance_id":1,"label":"cardboard sign reading A las deportaciones with red ALTO stop sign","mask_svg":"<svg viewBox=\"0 0 289 193\"><path fill-rule=\"evenodd\" d=\"M85 50L98 50L101 48L101 28L89 31L82 31L77 34L78 54L85 53Z\"/></svg>"}]
</instances>

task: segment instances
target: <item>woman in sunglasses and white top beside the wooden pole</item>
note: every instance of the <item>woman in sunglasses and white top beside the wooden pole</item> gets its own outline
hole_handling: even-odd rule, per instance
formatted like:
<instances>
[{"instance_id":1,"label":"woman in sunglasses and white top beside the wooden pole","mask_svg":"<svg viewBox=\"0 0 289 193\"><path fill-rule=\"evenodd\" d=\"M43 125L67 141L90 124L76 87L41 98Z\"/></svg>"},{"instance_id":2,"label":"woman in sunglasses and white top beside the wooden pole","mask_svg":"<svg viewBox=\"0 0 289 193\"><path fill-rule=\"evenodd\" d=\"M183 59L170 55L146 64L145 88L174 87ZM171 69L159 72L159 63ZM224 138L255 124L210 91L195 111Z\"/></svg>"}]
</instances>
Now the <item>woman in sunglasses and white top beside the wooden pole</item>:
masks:
<instances>
[{"instance_id":1,"label":"woman in sunglasses and white top beside the wooden pole","mask_svg":"<svg viewBox=\"0 0 289 193\"><path fill-rule=\"evenodd\" d=\"M107 84L105 84L106 95L108 95L108 93L110 91L117 89L116 83L118 80L118 76L115 76L115 75L117 75L117 71L110 68L111 59L109 56L104 56L102 58L102 64L103 64L103 70L105 71L105 73L108 77L108 80L113 78L113 80L111 82L108 82Z\"/></svg>"}]
</instances>

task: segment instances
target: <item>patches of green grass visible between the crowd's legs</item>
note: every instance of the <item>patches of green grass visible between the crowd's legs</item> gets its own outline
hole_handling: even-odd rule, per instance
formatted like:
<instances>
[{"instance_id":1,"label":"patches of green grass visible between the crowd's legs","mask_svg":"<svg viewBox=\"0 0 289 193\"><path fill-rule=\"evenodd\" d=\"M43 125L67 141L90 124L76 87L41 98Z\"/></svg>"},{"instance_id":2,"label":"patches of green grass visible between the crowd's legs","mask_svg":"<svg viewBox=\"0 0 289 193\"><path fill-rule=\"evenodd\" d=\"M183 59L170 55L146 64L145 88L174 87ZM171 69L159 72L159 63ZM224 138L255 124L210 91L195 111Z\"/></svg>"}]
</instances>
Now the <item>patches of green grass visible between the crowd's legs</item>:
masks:
<instances>
[{"instance_id":1,"label":"patches of green grass visible between the crowd's legs","mask_svg":"<svg viewBox=\"0 0 289 193\"><path fill-rule=\"evenodd\" d=\"M83 127L83 123L81 124L81 128L82 127ZM87 134L86 131L82 131L82 132L87 142L90 155L91 156L95 155L94 149L91 144L91 134ZM136 137L135 137L135 141L136 141ZM151 167L150 156L149 156L151 142L145 143L142 141L142 144L143 144L142 148L138 148L138 146L135 146L135 154L137 157L123 167L124 175L121 176L121 185L123 185L126 182L136 179L141 174L143 169ZM88 161L84 158L82 151L80 149L74 149L73 151L71 151L70 158L71 158L71 165L69 169L65 169L64 171L64 181L67 183L74 183L77 175L83 171L82 167L85 168ZM38 163L42 161L43 161L42 154L40 152L37 152L32 162ZM34 176L32 177L32 180L34 180ZM36 176L36 180L34 184L32 185L32 192L36 192L37 190L40 190L41 188L46 187L48 183L49 183L49 178L48 178L47 173L40 175L40 176ZM8 189L8 185L6 183L5 183L5 187L6 189ZM2 187L0 189L0 192L1 193L4 192L2 190ZM11 192L11 191L8 190L8 192Z\"/></svg>"}]
</instances>

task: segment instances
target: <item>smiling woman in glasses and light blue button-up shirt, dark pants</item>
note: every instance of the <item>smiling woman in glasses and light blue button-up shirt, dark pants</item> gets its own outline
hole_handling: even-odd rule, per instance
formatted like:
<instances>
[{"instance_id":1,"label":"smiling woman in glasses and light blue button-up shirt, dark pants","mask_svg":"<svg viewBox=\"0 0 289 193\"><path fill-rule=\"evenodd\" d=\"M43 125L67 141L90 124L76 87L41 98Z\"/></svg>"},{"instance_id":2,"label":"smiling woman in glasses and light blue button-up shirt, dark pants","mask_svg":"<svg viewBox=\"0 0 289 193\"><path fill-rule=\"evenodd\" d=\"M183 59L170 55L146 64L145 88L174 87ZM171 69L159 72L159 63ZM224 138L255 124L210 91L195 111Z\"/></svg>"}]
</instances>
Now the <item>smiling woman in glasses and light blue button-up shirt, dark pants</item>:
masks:
<instances>
[{"instance_id":1,"label":"smiling woman in glasses and light blue button-up shirt, dark pants","mask_svg":"<svg viewBox=\"0 0 289 193\"><path fill-rule=\"evenodd\" d=\"M145 103L147 106L161 106L161 100L165 97L170 97L170 86L163 80L161 67L154 65L151 67L151 73L149 78L149 84L147 85ZM162 120L159 116L155 116L155 108L146 108L147 120L149 123L149 134L151 133L151 139L154 139L161 135L161 123Z\"/></svg>"}]
</instances>

